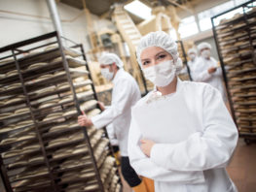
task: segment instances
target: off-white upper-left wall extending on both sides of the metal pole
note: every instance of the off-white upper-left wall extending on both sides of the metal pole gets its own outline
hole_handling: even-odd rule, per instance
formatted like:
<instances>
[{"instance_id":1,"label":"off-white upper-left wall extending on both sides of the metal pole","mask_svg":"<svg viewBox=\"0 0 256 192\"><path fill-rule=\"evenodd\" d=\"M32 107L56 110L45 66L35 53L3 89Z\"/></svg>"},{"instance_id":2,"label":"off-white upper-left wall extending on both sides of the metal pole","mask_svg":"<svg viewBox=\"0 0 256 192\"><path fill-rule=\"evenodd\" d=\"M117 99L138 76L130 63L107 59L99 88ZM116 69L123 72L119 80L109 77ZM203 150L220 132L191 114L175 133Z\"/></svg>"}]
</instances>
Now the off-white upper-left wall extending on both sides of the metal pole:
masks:
<instances>
[{"instance_id":1,"label":"off-white upper-left wall extending on both sides of the metal pole","mask_svg":"<svg viewBox=\"0 0 256 192\"><path fill-rule=\"evenodd\" d=\"M63 36L76 43L84 44L88 50L90 47L87 39L86 16L85 14L79 16L83 11L62 3L57 3L57 11ZM18 16L18 13L31 16ZM79 17L71 21L76 16ZM91 17L95 23L95 30L113 25L109 20L99 20L93 15ZM0 48L54 30L46 0L0 0Z\"/></svg>"}]
</instances>

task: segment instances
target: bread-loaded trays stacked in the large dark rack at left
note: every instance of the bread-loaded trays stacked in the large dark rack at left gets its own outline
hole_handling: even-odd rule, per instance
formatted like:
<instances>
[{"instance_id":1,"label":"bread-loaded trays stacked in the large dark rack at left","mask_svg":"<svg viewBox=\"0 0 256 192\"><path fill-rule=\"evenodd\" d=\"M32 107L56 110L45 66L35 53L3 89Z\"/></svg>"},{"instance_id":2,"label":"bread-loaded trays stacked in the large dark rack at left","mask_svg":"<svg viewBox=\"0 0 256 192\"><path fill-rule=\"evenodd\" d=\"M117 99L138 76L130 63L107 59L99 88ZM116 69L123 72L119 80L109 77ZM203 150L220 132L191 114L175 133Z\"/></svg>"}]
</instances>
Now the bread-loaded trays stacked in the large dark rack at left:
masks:
<instances>
[{"instance_id":1,"label":"bread-loaded trays stacked in the large dark rack at left","mask_svg":"<svg viewBox=\"0 0 256 192\"><path fill-rule=\"evenodd\" d=\"M99 171L109 159L109 141L103 129L78 125L77 106L89 117L101 111L87 62L76 58L83 54L63 50L71 81L56 47L19 58L19 69L14 59L0 60L1 159L13 191L100 191L93 164Z\"/></svg>"}]
</instances>

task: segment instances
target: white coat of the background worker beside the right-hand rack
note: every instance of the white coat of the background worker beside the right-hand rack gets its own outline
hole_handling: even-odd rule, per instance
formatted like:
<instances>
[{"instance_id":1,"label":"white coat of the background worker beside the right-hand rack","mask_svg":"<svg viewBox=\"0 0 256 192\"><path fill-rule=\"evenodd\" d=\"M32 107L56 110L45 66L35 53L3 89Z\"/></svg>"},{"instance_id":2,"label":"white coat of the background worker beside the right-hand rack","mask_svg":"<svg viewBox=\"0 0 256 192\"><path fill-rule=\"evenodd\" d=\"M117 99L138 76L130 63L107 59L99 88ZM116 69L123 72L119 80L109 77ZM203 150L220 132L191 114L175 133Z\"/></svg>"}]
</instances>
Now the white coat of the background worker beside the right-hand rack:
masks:
<instances>
[{"instance_id":1,"label":"white coat of the background worker beside the right-hand rack","mask_svg":"<svg viewBox=\"0 0 256 192\"><path fill-rule=\"evenodd\" d=\"M209 74L208 69L210 67L217 67L217 61L213 57L210 57L210 59L205 59L200 56L197 59L197 62L194 63L194 65L190 68L192 72L192 79L198 82L209 83L217 88L221 92L223 100L226 102L227 96L222 81L221 67L217 67L217 70L214 73Z\"/></svg>"}]
</instances>

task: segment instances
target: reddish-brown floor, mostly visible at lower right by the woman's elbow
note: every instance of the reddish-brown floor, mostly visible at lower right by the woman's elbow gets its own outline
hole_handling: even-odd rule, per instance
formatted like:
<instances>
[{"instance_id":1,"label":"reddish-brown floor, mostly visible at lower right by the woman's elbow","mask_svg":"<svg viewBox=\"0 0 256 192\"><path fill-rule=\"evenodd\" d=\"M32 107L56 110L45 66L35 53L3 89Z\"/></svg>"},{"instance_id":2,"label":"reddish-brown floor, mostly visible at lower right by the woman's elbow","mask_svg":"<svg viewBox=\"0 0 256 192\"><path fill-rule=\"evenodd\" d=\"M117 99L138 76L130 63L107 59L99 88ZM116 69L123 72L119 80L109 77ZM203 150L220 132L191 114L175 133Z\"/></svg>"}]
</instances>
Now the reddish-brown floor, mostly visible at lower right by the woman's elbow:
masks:
<instances>
[{"instance_id":1,"label":"reddish-brown floor, mostly visible at lower right by the woman's elbow","mask_svg":"<svg viewBox=\"0 0 256 192\"><path fill-rule=\"evenodd\" d=\"M246 145L242 139L227 168L238 192L256 192L256 144ZM130 189L127 188L127 191ZM0 192L5 192L0 178Z\"/></svg>"}]
</instances>

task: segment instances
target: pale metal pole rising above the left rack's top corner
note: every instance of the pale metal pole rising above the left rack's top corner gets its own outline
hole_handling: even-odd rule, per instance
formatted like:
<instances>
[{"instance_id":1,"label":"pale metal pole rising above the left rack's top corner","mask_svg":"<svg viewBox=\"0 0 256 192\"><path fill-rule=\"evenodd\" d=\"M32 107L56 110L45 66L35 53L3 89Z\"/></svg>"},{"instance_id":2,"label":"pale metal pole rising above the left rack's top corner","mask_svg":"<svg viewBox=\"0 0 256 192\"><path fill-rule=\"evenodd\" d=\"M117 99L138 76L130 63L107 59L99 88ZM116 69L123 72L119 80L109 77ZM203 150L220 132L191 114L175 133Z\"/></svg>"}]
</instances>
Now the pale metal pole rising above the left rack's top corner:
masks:
<instances>
[{"instance_id":1,"label":"pale metal pole rising above the left rack's top corner","mask_svg":"<svg viewBox=\"0 0 256 192\"><path fill-rule=\"evenodd\" d=\"M49 12L51 14L51 18L53 20L55 30L62 37L63 32L62 32L62 28L61 28L60 19L59 19L58 13L57 13L55 0L47 0L47 6L48 6Z\"/></svg>"}]
</instances>

